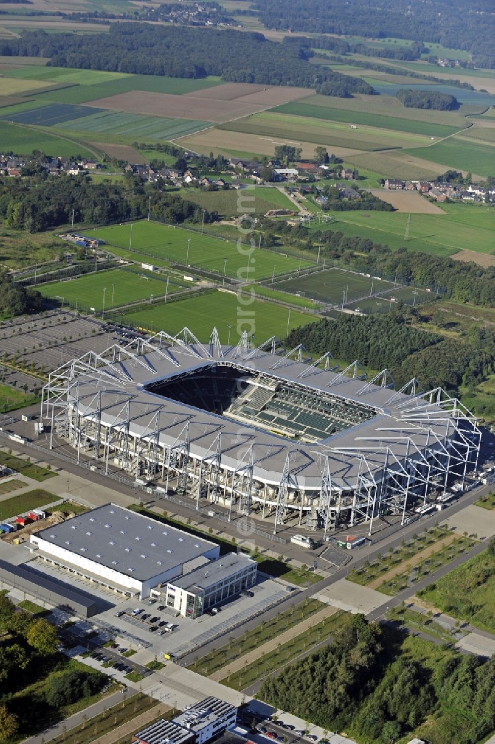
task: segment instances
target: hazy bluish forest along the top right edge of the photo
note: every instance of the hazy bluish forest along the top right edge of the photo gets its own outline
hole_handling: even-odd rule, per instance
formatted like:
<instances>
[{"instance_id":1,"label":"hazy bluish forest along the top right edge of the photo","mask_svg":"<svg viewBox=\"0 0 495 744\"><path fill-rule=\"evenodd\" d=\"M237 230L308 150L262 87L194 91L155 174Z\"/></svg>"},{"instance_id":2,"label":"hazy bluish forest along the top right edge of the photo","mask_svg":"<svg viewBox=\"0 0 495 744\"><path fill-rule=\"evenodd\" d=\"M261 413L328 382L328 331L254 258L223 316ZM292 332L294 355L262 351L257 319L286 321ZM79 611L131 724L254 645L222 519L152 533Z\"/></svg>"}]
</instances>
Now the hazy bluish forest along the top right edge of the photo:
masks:
<instances>
[{"instance_id":1,"label":"hazy bluish forest along the top right edge of the photo","mask_svg":"<svg viewBox=\"0 0 495 744\"><path fill-rule=\"evenodd\" d=\"M255 0L252 8L266 28L368 39L422 39L426 44L468 50L480 67L495 67L491 0L468 5L450 0L444 10L428 0L384 0L374 6L368 0Z\"/></svg>"}]
</instances>

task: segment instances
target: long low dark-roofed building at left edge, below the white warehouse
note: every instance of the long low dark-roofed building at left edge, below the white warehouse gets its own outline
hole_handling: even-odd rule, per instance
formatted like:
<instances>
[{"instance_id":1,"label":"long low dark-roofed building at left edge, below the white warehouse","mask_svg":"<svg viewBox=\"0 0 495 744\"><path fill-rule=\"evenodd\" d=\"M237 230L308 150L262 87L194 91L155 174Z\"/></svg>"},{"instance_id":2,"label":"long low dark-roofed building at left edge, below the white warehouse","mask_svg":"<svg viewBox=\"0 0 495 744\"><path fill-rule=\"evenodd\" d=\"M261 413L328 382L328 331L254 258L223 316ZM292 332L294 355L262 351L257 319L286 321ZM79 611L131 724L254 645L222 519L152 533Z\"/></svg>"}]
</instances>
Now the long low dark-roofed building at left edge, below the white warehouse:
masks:
<instances>
[{"instance_id":1,"label":"long low dark-roofed building at left edge, below the white warehouse","mask_svg":"<svg viewBox=\"0 0 495 744\"><path fill-rule=\"evenodd\" d=\"M0 560L0 582L80 618L91 618L97 612L95 600L89 594L77 591L28 565L13 565Z\"/></svg>"}]
</instances>

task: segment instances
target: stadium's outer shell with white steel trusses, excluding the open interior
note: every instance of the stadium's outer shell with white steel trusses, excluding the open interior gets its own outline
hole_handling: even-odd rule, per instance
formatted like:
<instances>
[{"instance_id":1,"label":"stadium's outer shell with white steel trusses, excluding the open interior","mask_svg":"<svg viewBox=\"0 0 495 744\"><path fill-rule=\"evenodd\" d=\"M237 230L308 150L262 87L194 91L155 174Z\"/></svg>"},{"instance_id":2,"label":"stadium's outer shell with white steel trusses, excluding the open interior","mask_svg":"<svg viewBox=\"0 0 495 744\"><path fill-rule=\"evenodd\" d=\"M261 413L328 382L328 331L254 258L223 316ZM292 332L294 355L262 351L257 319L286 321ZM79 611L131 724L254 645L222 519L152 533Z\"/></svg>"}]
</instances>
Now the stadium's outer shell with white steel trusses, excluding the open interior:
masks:
<instances>
[{"instance_id":1,"label":"stadium's outer shell with white steel trusses, excluding the open interior","mask_svg":"<svg viewBox=\"0 0 495 744\"><path fill-rule=\"evenodd\" d=\"M63 437L77 451L78 463L81 452L85 452L92 458L103 459L108 473L112 456L136 481L141 476L160 479L162 483L165 481L165 490L173 484L179 493L189 493L197 508L201 498L214 502L223 498L223 504L229 505L229 520L234 507L244 515L251 514L255 501L259 501L255 496L258 493L255 466L257 460L263 460L252 434L237 434L237 440L232 443L230 437L223 437L221 425L207 424L214 427L210 432L215 435L214 440L202 458L194 459L191 458L191 417L187 413L176 414L170 423L163 412L163 403L153 402L140 403L137 412L131 415L137 404L135 394L129 391L130 370L143 368L153 377L158 374L154 360L165 359L180 368L178 357L184 353L203 362L209 360L211 365L234 368L243 368L243 363L255 364L256 359L270 354L274 361L264 371L266 378L279 379L277 369L304 365L296 379L293 382L284 379L284 385L313 393L315 388L303 380L322 372L331 375L322 383L326 388L345 379L363 380L358 392L370 401L375 388L395 388L386 369L366 381L365 371L357 360L338 371L330 352L313 362L302 345L286 352L275 336L251 348L249 336L244 333L237 347L222 347L215 327L207 347L187 327L176 336L161 331L150 339L136 339L125 346L113 344L100 354L88 352L50 374L41 402L42 418L51 421L50 447L54 446L54 437ZM81 383L88 380L92 383L91 394L81 391ZM333 391L328 394L333 395ZM342 398L341 393L339 397ZM315 514L313 526L322 527L325 536L342 522L353 526L363 521L369 523L371 535L374 520L383 513L398 514L404 523L407 510L414 504L426 504L432 494L445 494L453 473L464 487L467 470L476 471L481 441L473 414L442 388L425 392L415 378L392 392L386 405L392 404L399 412L393 426L380 427L372 437L355 437L354 446L332 446L331 439L325 440L325 446L315 455L321 485L307 493L298 482L301 454L304 460L307 453L286 445L280 480L272 484L272 496L268 499L269 513L275 520L274 533L284 524L287 514L298 509L300 523L303 510ZM363 402L363 405L368 404ZM372 403L369 405L373 408ZM103 425L102 414L109 409L112 420L109 422L107 415ZM160 434L177 424L182 429L165 446ZM228 452L236 453L235 466L227 466L223 461ZM342 458L354 462L356 473L345 489L336 484L331 467L336 461L343 461ZM265 484L263 516L266 493Z\"/></svg>"}]
</instances>

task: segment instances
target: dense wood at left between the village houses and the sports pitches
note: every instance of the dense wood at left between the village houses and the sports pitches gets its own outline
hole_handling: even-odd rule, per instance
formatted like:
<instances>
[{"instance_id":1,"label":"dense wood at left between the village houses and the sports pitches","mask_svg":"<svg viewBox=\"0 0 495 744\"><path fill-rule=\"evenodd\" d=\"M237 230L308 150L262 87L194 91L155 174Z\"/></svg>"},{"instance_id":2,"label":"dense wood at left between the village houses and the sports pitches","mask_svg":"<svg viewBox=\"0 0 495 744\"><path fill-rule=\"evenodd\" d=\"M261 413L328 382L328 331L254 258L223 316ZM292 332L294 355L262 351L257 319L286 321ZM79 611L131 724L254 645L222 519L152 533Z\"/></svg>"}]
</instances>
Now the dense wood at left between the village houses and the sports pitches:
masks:
<instances>
[{"instance_id":1,"label":"dense wood at left between the village houses and the sports pitches","mask_svg":"<svg viewBox=\"0 0 495 744\"><path fill-rule=\"evenodd\" d=\"M158 184L144 184L128 176L124 183L95 184L89 176L24 179L0 177L0 217L7 227L35 233L59 225L89 222L106 225L127 219L147 217L151 196L151 216L165 222L201 222L203 211L174 193L160 190ZM216 212L205 211L205 222L218 219Z\"/></svg>"}]
</instances>

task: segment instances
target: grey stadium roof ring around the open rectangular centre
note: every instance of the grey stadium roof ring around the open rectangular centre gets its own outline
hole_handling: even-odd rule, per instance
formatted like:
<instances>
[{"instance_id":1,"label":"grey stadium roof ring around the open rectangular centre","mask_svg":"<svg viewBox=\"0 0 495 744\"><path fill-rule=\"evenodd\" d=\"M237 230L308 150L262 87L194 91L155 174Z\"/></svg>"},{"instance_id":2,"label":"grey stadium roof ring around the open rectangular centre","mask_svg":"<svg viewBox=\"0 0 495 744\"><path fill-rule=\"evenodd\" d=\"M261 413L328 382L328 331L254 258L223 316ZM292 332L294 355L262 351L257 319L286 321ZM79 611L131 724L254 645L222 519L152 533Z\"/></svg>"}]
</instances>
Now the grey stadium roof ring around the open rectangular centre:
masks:
<instances>
[{"instance_id":1,"label":"grey stadium roof ring around the open rectangular centre","mask_svg":"<svg viewBox=\"0 0 495 744\"><path fill-rule=\"evenodd\" d=\"M425 400L394 392L363 378L325 371L319 366L310 366L307 361L295 361L261 349L240 350L240 347L220 347L219 344L206 348L199 342L186 344L180 340L171 346L167 346L165 340L165 345L159 347L162 343L159 336L147 341L139 356L135 356L135 349L127 354L120 347L111 347L105 359L86 355L60 368L52 378L56 381L57 373L63 376L70 369L69 379L77 379L80 415L94 420L100 395L101 423L124 430L128 413L130 433L138 437L153 434L159 411L159 442L167 447L176 446L181 437L183 440L188 424L189 452L197 458L211 456L221 432L221 463L232 471L237 468L243 452L254 445L253 477L261 481L278 485L287 453L291 452L291 478L299 488L307 490L320 487L327 458L333 486L346 490L355 485L363 453L369 468L379 478L389 452L398 459L409 455L409 458L421 460L418 449L427 445L441 449L441 445L435 443L436 437L443 440L447 434L452 434L456 423L440 401L431 402L434 397ZM113 356L114 361L109 356ZM215 364L246 370L249 375L262 373L266 378L302 386L316 394L366 405L373 409L374 416L310 444L258 429L252 422L243 424L199 410L146 389L159 380L185 376Z\"/></svg>"}]
</instances>

